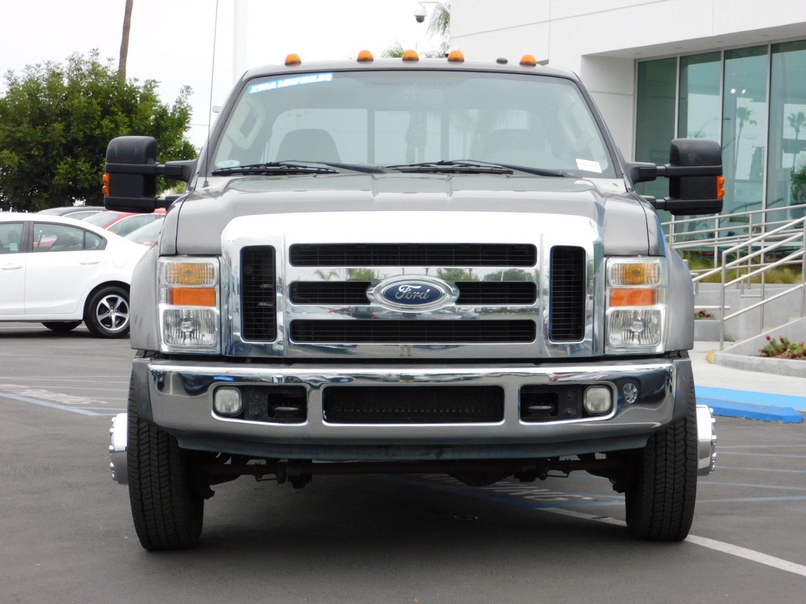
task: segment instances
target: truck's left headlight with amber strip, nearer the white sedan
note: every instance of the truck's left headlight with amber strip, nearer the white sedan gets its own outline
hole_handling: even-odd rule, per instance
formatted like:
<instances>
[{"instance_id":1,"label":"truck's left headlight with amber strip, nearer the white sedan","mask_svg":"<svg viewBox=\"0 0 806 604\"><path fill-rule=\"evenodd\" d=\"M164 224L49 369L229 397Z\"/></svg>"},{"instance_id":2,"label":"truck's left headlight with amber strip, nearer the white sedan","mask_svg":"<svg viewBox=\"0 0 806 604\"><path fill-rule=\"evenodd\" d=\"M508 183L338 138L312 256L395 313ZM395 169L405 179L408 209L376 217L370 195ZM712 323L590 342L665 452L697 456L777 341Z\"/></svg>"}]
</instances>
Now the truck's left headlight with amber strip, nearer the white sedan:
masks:
<instances>
[{"instance_id":1,"label":"truck's left headlight with amber strip, nearer the white sedan","mask_svg":"<svg viewBox=\"0 0 806 604\"><path fill-rule=\"evenodd\" d=\"M160 258L160 350L220 350L218 258Z\"/></svg>"}]
</instances>

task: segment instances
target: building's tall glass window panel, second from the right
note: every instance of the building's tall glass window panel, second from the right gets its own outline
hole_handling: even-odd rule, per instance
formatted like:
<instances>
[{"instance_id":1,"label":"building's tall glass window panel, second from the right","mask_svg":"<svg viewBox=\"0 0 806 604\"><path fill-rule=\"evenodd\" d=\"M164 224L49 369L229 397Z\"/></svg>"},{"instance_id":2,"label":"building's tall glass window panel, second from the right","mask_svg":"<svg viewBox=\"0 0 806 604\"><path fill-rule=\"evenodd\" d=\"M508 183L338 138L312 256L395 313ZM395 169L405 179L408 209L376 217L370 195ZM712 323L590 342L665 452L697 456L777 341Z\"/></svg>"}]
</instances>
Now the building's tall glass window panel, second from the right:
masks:
<instances>
[{"instance_id":1,"label":"building's tall glass window panel, second from the right","mask_svg":"<svg viewBox=\"0 0 806 604\"><path fill-rule=\"evenodd\" d=\"M762 208L766 143L767 47L725 51L722 94L723 213Z\"/></svg>"}]
</instances>

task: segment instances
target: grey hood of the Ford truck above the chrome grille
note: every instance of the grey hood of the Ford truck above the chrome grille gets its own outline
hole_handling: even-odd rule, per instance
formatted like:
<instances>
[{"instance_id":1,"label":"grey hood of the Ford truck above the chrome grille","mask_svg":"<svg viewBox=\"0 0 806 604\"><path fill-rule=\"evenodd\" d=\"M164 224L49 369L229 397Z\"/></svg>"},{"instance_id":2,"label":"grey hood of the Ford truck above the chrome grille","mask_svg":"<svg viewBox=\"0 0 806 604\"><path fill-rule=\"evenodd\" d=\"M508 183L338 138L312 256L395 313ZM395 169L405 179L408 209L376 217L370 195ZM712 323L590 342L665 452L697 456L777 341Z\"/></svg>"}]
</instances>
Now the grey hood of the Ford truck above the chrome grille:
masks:
<instances>
[{"instance_id":1,"label":"grey hood of the Ford truck above the chrome grille","mask_svg":"<svg viewBox=\"0 0 806 604\"><path fill-rule=\"evenodd\" d=\"M478 213L479 230L487 212L582 216L598 226L606 255L663 254L654 211L618 180L349 173L222 178L210 184L168 212L160 254L220 254L222 230L235 217L317 213L322 220L322 213L333 213L338 221L339 213L368 211L378 213L381 225L384 212Z\"/></svg>"}]
</instances>

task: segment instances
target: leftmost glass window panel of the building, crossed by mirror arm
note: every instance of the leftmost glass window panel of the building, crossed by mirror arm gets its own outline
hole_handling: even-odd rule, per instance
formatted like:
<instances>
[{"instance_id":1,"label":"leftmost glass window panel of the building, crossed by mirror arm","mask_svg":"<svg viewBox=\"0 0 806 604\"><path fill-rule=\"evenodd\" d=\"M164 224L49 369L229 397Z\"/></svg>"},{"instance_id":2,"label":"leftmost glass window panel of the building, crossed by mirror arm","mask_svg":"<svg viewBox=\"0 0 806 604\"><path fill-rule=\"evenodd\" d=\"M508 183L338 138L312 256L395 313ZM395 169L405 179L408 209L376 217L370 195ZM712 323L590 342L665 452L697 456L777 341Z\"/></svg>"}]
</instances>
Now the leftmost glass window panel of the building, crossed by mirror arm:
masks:
<instances>
[{"instance_id":1,"label":"leftmost glass window panel of the building, crossed by mirror arm","mask_svg":"<svg viewBox=\"0 0 806 604\"><path fill-rule=\"evenodd\" d=\"M675 87L677 57L638 64L638 100L635 120L635 160L667 163L669 144L675 138ZM659 178L639 183L643 195L666 197L669 181Z\"/></svg>"}]
</instances>

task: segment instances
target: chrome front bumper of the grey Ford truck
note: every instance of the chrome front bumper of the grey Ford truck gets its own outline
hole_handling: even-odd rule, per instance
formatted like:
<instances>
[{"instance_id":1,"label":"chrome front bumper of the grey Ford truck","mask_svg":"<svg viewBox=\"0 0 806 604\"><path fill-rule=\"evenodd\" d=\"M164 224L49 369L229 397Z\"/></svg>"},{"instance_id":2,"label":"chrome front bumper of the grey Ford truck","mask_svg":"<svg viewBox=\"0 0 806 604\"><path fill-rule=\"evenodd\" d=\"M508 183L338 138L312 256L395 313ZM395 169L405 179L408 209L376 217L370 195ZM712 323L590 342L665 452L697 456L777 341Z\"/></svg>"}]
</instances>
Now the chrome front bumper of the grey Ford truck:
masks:
<instances>
[{"instance_id":1,"label":"chrome front bumper of the grey Ford truck","mask_svg":"<svg viewBox=\"0 0 806 604\"><path fill-rule=\"evenodd\" d=\"M546 365L312 366L135 359L152 422L181 446L261 457L318 459L434 459L552 457L638 448L653 432L681 418L691 379L688 359L646 359ZM621 384L638 383L628 403ZM682 380L682 381L681 381ZM396 386L497 385L505 392L504 420L484 424L332 424L322 414L322 390L331 384ZM607 384L617 392L608 416L546 423L520 418L521 386ZM307 420L274 424L230 419L213 412L221 386L293 384L305 387ZM147 392L145 391L147 386ZM629 397L632 399L633 397ZM142 403L141 403L142 404Z\"/></svg>"}]
</instances>

